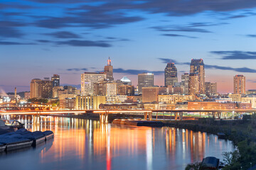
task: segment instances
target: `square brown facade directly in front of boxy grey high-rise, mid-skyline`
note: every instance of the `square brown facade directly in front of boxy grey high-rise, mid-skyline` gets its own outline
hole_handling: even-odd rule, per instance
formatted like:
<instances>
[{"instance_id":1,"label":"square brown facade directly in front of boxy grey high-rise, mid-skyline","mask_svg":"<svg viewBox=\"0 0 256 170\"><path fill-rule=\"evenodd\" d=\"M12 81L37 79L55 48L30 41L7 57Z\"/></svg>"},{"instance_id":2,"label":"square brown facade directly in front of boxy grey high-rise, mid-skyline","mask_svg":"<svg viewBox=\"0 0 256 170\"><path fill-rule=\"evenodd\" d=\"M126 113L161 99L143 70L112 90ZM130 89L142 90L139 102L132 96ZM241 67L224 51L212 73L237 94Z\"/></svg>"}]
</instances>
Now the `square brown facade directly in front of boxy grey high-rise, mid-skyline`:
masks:
<instances>
[{"instance_id":1,"label":"square brown facade directly in front of boxy grey high-rise, mid-skyline","mask_svg":"<svg viewBox=\"0 0 256 170\"><path fill-rule=\"evenodd\" d=\"M158 103L158 87L142 87L142 103Z\"/></svg>"}]
</instances>

